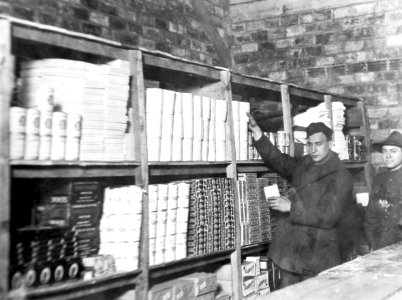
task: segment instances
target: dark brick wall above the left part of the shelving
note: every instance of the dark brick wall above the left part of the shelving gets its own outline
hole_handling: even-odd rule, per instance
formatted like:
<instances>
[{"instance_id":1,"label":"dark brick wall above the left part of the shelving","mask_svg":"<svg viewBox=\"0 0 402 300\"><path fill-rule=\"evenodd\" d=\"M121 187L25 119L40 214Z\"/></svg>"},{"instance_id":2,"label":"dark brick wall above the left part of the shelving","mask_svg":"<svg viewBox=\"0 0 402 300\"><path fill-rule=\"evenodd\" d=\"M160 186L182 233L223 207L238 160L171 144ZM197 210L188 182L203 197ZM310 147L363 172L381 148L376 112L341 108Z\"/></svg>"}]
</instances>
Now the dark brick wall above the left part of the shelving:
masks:
<instances>
[{"instance_id":1,"label":"dark brick wall above the left part of the shelving","mask_svg":"<svg viewBox=\"0 0 402 300\"><path fill-rule=\"evenodd\" d=\"M213 26L228 38L228 0L0 0L0 13L93 34L132 46L157 49L199 62L224 65ZM210 31L207 31L210 32ZM227 55L227 52L225 53Z\"/></svg>"}]
</instances>

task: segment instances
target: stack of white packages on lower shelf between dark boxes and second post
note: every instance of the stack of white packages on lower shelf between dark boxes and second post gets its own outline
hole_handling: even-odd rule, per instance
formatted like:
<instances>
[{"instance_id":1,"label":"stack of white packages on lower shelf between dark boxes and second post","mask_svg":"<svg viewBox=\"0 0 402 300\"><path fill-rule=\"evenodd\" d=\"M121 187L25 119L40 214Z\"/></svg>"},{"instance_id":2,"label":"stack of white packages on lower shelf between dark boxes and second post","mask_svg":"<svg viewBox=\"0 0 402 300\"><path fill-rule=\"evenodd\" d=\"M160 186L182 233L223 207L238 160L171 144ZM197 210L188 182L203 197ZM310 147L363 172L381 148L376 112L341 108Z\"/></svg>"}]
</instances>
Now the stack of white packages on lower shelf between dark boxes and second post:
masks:
<instances>
[{"instance_id":1,"label":"stack of white packages on lower shelf between dark boxes and second post","mask_svg":"<svg viewBox=\"0 0 402 300\"><path fill-rule=\"evenodd\" d=\"M138 186L105 189L99 254L110 255L116 271L138 268L141 220L142 190Z\"/></svg>"}]
</instances>

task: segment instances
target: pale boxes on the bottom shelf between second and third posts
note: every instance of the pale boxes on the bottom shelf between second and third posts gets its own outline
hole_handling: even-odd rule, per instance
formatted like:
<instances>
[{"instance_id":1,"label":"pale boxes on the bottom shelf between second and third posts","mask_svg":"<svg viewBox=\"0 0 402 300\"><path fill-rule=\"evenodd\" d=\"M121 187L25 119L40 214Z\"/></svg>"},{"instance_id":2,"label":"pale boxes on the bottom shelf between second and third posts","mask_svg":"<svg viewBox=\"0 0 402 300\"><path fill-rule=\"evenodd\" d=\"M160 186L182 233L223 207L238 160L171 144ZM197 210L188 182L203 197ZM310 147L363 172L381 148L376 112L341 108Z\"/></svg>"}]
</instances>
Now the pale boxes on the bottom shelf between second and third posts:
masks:
<instances>
[{"instance_id":1,"label":"pale boxes on the bottom shelf between second and third posts","mask_svg":"<svg viewBox=\"0 0 402 300\"><path fill-rule=\"evenodd\" d=\"M216 288L215 274L193 273L154 285L148 299L215 300Z\"/></svg>"}]
</instances>

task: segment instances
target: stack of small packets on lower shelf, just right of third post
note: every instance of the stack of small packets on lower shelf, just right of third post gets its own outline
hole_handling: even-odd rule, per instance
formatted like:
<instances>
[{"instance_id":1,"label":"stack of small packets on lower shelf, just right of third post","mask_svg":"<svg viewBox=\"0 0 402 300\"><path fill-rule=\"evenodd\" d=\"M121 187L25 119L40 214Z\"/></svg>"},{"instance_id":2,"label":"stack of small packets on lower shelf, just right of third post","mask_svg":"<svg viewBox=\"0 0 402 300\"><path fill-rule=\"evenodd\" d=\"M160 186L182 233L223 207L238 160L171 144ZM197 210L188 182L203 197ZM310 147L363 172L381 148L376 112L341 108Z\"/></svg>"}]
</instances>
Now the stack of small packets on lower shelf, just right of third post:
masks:
<instances>
[{"instance_id":1,"label":"stack of small packets on lower shelf, just right of third post","mask_svg":"<svg viewBox=\"0 0 402 300\"><path fill-rule=\"evenodd\" d=\"M257 174L242 173L238 175L238 194L242 245L261 242L260 195L257 186Z\"/></svg>"}]
</instances>

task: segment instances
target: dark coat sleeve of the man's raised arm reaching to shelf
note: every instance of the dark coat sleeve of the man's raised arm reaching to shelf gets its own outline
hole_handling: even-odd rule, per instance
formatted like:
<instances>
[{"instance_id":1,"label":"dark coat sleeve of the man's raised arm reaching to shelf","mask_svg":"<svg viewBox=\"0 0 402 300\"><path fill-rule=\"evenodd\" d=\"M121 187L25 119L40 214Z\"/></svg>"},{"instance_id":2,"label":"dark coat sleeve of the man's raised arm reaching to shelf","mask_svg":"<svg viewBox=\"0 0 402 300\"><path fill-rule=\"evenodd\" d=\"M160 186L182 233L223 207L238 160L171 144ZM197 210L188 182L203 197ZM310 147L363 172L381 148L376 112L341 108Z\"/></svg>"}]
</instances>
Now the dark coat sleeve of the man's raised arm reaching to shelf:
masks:
<instances>
[{"instance_id":1,"label":"dark coat sleeve of the man's raised arm reaching to shelf","mask_svg":"<svg viewBox=\"0 0 402 300\"><path fill-rule=\"evenodd\" d=\"M280 152L265 135L258 141L254 140L254 146L270 169L278 172L288 180L292 178L296 166L296 158Z\"/></svg>"}]
</instances>

